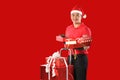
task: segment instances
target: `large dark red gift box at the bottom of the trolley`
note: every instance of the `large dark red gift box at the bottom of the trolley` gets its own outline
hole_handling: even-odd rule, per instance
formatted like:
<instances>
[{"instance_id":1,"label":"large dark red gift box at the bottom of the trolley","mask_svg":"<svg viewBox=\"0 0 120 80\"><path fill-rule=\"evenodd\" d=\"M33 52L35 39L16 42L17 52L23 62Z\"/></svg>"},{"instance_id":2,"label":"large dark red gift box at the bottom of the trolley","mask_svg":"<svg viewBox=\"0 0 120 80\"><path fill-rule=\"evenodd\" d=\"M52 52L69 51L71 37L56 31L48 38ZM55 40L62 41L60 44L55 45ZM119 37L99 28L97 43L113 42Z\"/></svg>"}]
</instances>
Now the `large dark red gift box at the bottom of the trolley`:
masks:
<instances>
[{"instance_id":1,"label":"large dark red gift box at the bottom of the trolley","mask_svg":"<svg viewBox=\"0 0 120 80\"><path fill-rule=\"evenodd\" d=\"M40 80L49 80L48 79L48 73L45 72L45 65L40 66ZM52 77L50 75L50 80L67 80L66 79L66 68L56 68L57 72L59 73L58 76ZM52 72L50 72L52 74ZM68 80L74 80L73 77L73 65L68 65Z\"/></svg>"}]
</instances>

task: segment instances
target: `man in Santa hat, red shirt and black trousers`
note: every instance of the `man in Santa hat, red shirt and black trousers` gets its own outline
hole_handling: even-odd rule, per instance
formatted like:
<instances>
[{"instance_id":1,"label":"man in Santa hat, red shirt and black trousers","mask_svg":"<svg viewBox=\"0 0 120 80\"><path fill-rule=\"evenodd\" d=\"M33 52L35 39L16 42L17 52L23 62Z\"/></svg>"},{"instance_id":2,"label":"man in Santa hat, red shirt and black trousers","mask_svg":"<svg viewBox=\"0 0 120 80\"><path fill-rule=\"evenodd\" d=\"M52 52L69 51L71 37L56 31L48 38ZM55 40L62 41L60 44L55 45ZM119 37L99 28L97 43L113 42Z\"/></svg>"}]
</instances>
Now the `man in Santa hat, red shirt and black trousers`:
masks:
<instances>
[{"instance_id":1,"label":"man in Santa hat, red shirt and black trousers","mask_svg":"<svg viewBox=\"0 0 120 80\"><path fill-rule=\"evenodd\" d=\"M82 19L86 18L86 14L84 14L83 10L78 6L74 7L71 10L70 15L73 24L66 28L65 38L69 41L74 40L76 44L73 45L72 48L70 45L65 45L67 45L67 48L70 48L72 50L74 80L86 80L88 66L87 50L89 49L90 45L86 45L84 43L87 42L86 40L91 40L91 30L82 22ZM60 36L58 38L60 39Z\"/></svg>"}]
</instances>

